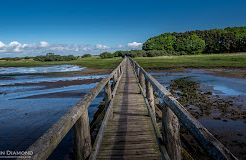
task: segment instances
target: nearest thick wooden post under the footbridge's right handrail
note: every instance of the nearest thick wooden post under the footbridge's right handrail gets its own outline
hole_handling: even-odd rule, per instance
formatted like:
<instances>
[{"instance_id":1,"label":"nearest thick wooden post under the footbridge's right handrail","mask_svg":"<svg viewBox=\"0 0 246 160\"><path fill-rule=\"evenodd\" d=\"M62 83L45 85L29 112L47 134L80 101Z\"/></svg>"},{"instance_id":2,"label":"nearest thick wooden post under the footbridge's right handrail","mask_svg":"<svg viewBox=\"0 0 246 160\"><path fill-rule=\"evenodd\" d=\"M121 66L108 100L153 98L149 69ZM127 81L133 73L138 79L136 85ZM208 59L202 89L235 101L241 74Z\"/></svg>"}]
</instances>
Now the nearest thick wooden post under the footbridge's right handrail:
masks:
<instances>
[{"instance_id":1,"label":"nearest thick wooden post under the footbridge's right handrail","mask_svg":"<svg viewBox=\"0 0 246 160\"><path fill-rule=\"evenodd\" d=\"M180 125L172 110L164 106L162 110L163 140L172 160L181 160Z\"/></svg>"}]
</instances>

